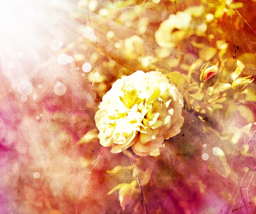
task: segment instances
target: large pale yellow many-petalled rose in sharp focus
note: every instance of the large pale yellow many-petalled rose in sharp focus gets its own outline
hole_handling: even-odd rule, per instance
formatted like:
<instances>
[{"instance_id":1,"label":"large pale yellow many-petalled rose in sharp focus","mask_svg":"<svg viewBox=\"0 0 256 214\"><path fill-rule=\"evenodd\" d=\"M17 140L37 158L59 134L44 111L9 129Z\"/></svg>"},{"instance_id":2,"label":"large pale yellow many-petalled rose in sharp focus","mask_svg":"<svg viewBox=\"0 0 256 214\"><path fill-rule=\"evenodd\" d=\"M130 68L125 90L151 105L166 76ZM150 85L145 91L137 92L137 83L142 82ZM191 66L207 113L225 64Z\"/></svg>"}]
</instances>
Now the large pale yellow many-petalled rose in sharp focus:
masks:
<instances>
[{"instance_id":1,"label":"large pale yellow many-petalled rose in sharp focus","mask_svg":"<svg viewBox=\"0 0 256 214\"><path fill-rule=\"evenodd\" d=\"M140 156L180 133L183 98L158 71L136 71L116 80L102 98L95 121L102 146L112 153L132 147Z\"/></svg>"}]
</instances>

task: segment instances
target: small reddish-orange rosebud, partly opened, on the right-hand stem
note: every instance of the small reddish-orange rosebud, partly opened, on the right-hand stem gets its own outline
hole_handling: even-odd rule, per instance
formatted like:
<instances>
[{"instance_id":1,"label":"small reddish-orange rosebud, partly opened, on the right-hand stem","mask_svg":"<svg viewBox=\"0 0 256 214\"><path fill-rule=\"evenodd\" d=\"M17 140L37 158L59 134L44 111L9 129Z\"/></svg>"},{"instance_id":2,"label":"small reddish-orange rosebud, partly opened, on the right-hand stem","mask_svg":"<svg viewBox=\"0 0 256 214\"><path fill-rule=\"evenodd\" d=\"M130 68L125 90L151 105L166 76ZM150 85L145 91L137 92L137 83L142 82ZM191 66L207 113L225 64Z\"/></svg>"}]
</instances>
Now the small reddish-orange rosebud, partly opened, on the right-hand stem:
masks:
<instances>
[{"instance_id":1,"label":"small reddish-orange rosebud, partly opened, on the right-hand stem","mask_svg":"<svg viewBox=\"0 0 256 214\"><path fill-rule=\"evenodd\" d=\"M219 72L220 71L218 70L218 64L206 69L204 68L201 72L200 80L205 86L212 87L216 83Z\"/></svg>"}]
</instances>

